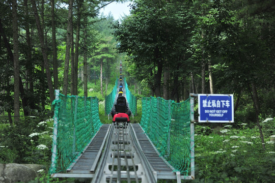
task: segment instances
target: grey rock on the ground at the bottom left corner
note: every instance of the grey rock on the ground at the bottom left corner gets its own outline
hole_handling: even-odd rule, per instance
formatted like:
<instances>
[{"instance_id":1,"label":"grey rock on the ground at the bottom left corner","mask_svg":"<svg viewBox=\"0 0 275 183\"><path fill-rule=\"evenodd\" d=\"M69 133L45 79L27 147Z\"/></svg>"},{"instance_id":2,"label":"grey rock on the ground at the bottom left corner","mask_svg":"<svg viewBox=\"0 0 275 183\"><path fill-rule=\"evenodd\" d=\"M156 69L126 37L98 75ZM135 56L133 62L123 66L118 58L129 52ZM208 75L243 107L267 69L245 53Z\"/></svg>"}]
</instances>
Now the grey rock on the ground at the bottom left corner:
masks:
<instances>
[{"instance_id":1,"label":"grey rock on the ground at the bottom left corner","mask_svg":"<svg viewBox=\"0 0 275 183\"><path fill-rule=\"evenodd\" d=\"M0 164L0 183L28 182L37 176L42 165Z\"/></svg>"}]
</instances>

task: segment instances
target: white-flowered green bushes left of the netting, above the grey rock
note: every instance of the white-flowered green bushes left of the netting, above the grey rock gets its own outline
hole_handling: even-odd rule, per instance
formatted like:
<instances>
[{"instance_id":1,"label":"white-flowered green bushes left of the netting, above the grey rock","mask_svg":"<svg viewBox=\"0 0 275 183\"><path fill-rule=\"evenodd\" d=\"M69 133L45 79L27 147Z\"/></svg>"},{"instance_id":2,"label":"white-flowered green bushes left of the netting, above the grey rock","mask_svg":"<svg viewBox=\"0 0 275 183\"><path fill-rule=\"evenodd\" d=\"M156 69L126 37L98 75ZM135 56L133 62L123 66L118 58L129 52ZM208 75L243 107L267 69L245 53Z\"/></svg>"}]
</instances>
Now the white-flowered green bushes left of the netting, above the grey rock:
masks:
<instances>
[{"instance_id":1,"label":"white-flowered green bushes left of the netting, above the grey rock","mask_svg":"<svg viewBox=\"0 0 275 183\"><path fill-rule=\"evenodd\" d=\"M47 164L51 155L52 120L21 119L0 127L1 163Z\"/></svg>"}]
</instances>

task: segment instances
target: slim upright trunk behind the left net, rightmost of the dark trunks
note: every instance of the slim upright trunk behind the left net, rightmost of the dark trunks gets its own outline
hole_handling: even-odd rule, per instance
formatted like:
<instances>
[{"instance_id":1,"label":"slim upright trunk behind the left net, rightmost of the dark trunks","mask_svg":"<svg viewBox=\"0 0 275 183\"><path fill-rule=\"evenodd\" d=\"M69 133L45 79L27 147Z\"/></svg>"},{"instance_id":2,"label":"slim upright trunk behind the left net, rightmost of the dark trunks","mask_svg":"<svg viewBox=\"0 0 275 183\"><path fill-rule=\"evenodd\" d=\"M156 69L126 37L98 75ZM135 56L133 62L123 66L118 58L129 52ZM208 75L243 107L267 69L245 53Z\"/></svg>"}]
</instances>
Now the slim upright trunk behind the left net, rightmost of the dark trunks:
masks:
<instances>
[{"instance_id":1,"label":"slim upright trunk behind the left net, rightmost of the dark trunks","mask_svg":"<svg viewBox=\"0 0 275 183\"><path fill-rule=\"evenodd\" d=\"M83 70L84 70L84 96L88 97L88 73L87 73L87 16L84 18L84 59L83 59Z\"/></svg>"}]
</instances>

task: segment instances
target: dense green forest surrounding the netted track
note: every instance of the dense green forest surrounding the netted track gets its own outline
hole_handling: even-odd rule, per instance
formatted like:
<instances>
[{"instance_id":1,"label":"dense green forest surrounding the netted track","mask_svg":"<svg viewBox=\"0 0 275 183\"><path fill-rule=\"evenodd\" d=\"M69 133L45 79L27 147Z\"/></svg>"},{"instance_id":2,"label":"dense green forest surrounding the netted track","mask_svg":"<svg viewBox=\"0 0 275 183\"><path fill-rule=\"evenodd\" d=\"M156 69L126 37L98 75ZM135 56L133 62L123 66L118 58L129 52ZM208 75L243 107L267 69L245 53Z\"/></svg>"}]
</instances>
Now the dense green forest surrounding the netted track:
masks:
<instances>
[{"instance_id":1,"label":"dense green forest surrounding the netted track","mask_svg":"<svg viewBox=\"0 0 275 183\"><path fill-rule=\"evenodd\" d=\"M195 126L193 182L274 182L273 0L0 1L0 163L49 166L54 89L97 97L111 123L104 96L122 62L135 123L142 97L234 95L234 124ZM100 15L113 2L130 15Z\"/></svg>"}]
</instances>

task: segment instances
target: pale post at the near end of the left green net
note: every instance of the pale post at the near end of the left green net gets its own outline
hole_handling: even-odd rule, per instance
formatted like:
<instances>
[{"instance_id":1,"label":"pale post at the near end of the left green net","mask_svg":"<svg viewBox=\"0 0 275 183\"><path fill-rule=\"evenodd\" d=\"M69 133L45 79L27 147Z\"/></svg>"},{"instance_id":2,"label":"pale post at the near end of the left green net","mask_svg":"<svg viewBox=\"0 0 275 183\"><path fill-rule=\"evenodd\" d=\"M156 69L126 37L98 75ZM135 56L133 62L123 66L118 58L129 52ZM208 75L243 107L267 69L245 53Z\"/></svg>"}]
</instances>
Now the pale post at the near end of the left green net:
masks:
<instances>
[{"instance_id":1,"label":"pale post at the near end of the left green net","mask_svg":"<svg viewBox=\"0 0 275 183\"><path fill-rule=\"evenodd\" d=\"M55 90L56 100L59 100L59 89ZM56 110L56 109L54 109ZM53 135L52 135L52 156L51 156L51 167L56 167L56 156L57 156L57 134L58 133L58 116L57 113L54 112L53 116ZM55 142L55 143L54 143Z\"/></svg>"}]
</instances>

